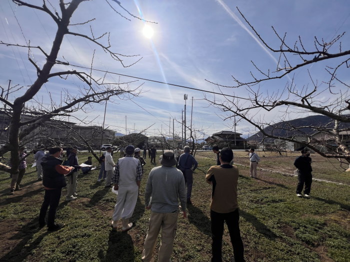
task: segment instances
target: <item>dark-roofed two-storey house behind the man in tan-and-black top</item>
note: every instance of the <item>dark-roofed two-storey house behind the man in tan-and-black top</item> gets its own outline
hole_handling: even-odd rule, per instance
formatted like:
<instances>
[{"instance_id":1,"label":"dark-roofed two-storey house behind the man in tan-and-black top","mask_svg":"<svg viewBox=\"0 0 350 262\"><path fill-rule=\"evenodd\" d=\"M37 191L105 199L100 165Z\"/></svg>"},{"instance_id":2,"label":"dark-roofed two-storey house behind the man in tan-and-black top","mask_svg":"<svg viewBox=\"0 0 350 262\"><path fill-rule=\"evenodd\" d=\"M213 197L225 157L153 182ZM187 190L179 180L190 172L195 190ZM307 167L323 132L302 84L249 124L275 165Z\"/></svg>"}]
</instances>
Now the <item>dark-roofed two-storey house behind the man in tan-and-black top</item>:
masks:
<instances>
[{"instance_id":1,"label":"dark-roofed two-storey house behind the man in tan-and-black top","mask_svg":"<svg viewBox=\"0 0 350 262\"><path fill-rule=\"evenodd\" d=\"M217 145L219 148L245 149L247 140L240 137L240 135L240 133L232 131L220 131L206 138L205 142L210 145Z\"/></svg>"}]
</instances>

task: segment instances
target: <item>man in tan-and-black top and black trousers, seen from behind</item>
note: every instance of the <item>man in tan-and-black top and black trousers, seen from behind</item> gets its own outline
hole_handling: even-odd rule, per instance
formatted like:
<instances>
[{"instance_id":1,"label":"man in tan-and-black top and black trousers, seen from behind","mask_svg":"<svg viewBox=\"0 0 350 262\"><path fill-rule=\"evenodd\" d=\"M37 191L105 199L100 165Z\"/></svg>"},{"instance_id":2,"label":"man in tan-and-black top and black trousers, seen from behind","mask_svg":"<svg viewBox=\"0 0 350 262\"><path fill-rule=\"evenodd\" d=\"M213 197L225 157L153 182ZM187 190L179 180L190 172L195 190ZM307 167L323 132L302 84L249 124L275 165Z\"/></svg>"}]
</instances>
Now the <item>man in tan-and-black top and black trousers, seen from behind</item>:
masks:
<instances>
[{"instance_id":1,"label":"man in tan-and-black top and black trousers, seen from behind","mask_svg":"<svg viewBox=\"0 0 350 262\"><path fill-rule=\"evenodd\" d=\"M234 259L244 262L244 248L239 230L239 213L237 203L238 169L230 165L233 158L231 149L222 148L219 160L221 165L212 166L206 172L205 180L212 185L210 203L211 253L212 262L221 262L223 223L226 222L233 247Z\"/></svg>"}]
</instances>

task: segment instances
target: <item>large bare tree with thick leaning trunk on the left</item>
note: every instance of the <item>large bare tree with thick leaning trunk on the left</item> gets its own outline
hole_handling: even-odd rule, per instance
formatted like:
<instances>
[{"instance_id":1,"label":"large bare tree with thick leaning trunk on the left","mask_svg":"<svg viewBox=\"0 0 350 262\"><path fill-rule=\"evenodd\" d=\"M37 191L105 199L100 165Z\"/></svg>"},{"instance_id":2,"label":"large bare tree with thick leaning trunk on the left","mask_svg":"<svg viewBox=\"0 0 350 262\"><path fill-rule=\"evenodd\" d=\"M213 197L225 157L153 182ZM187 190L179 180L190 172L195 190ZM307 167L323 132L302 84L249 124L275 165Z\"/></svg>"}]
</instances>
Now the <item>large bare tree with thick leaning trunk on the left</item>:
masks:
<instances>
[{"instance_id":1,"label":"large bare tree with thick leaning trunk on the left","mask_svg":"<svg viewBox=\"0 0 350 262\"><path fill-rule=\"evenodd\" d=\"M113 97L117 97L119 99L132 99L140 92L138 89L139 86L131 88L129 85L130 82L122 83L120 80L118 80L118 82L107 83L108 81L106 81L106 75L103 77L92 75L94 52L91 55L92 59L91 64L89 65L90 70L88 71L76 69L67 60L69 57L65 57L64 55L60 54L60 57L63 59L58 59L58 52L63 43L64 37L67 35L72 35L88 40L89 42L93 43L96 48L100 48L112 59L119 62L123 67L131 66L139 61L139 59L141 59L137 57L137 55L123 55L113 51L109 42L109 33L107 32L103 33L100 36L95 36L91 26L91 35L81 34L79 32L73 31L75 27L72 25L86 26L89 22L94 20L91 19L79 24L70 24L70 19L73 13L84 1L85 0L71 0L64 2L63 0L59 0L59 7L55 8L51 3L49 3L50 6L46 5L45 0L42 0L42 5L34 5L23 0L12 0L13 3L20 7L35 9L36 11L38 10L49 15L52 21L56 24L57 29L50 50L45 50L45 48L32 44L32 42L35 42L35 39L31 42L26 42L25 44L6 43L0 41L0 44L6 46L26 48L28 50L28 60L36 69L36 79L30 86L25 87L26 89L24 94L16 96L13 102L8 99L8 91L7 94L5 94L4 89L1 87L2 93L0 96L0 102L3 104L2 112L6 115L6 117L8 117L9 123L8 127L6 128L8 132L8 140L5 141L5 145L0 148L0 155L3 155L8 151L11 152L11 173L18 172L17 166L19 164L19 145L24 144L25 140L30 140L30 136L33 131L47 120L57 119L57 117L61 116L69 116L76 111L85 112L85 110L91 108L93 103L101 103L102 101L112 99ZM126 16L140 19L129 13L125 8L121 6L120 2L118 1L113 0L113 2L109 2L106 0L101 4L105 3L109 5L108 8L111 8L116 15L120 15L127 20L130 19ZM115 7L113 7L113 5L115 5ZM121 12L118 12L116 10L116 8L121 8L121 12L125 11L126 15L122 15ZM95 12L98 11L98 9L95 10ZM41 56L43 55L44 60L35 60L31 55L33 50L38 51ZM126 61L124 59L126 59ZM130 60L130 62L127 63L127 60ZM62 68L70 69L62 70ZM75 76L82 82L82 87L79 87L76 93L72 92L70 88L62 89L61 101L58 102L54 101L54 99L51 98L51 94L49 93L48 106L40 105L40 101L35 100L35 95L42 88L45 82L54 77L66 79L68 76ZM9 90L14 93L18 91L18 89L20 89L20 87L18 88L18 85L14 85L12 88L9 88ZM32 116L31 119L23 121L21 118L23 113L29 113Z\"/></svg>"}]
</instances>

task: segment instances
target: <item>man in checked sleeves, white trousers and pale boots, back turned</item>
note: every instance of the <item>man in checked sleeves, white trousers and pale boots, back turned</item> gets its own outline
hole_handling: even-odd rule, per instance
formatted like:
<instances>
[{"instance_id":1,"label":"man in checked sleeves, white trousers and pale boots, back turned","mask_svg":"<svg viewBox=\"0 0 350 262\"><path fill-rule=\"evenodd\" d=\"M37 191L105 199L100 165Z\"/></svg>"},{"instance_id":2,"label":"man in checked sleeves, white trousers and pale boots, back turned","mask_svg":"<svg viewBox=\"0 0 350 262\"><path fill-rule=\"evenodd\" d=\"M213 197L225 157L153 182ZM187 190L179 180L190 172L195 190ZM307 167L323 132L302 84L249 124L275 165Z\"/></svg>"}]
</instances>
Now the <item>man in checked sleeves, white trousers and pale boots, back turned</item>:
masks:
<instances>
[{"instance_id":1,"label":"man in checked sleeves, white trousers and pale boots, back turned","mask_svg":"<svg viewBox=\"0 0 350 262\"><path fill-rule=\"evenodd\" d=\"M132 227L129 219L137 202L138 188L142 179L142 168L139 160L132 157L134 147L128 145L125 148L126 156L116 162L112 183L114 190L118 190L118 197L112 215L112 228L116 229L118 220L121 219L122 231L128 231Z\"/></svg>"}]
</instances>

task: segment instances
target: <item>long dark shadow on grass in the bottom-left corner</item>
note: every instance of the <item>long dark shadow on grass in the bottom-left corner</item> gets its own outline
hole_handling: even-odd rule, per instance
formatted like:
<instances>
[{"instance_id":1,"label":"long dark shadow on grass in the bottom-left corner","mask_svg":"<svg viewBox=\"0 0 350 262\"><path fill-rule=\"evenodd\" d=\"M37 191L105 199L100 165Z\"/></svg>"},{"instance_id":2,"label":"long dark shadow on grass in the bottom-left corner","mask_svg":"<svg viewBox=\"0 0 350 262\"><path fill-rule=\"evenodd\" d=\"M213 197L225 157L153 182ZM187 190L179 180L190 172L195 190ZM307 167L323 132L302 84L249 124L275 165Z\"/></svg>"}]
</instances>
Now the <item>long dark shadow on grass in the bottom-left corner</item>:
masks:
<instances>
[{"instance_id":1,"label":"long dark shadow on grass in the bottom-left corner","mask_svg":"<svg viewBox=\"0 0 350 262\"><path fill-rule=\"evenodd\" d=\"M36 249L42 239L48 234L48 232L45 231L33 240L33 235L40 231L37 227L37 223L37 218L31 220L9 239L21 241L13 247L11 251L3 255L0 261L24 261L26 257L32 254L32 251ZM30 243L28 243L29 241Z\"/></svg>"}]
</instances>

